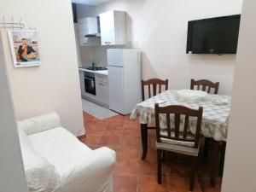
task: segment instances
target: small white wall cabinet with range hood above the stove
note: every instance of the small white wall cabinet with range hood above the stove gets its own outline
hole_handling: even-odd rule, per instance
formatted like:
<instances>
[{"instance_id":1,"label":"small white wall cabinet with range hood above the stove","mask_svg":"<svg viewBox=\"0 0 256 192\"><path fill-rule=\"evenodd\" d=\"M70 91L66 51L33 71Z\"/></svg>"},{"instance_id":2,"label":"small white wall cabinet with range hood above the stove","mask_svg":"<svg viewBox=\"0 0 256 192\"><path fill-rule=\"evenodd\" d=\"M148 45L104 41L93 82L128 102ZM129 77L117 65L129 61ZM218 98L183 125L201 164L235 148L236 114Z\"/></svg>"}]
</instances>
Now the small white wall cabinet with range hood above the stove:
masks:
<instances>
[{"instance_id":1,"label":"small white wall cabinet with range hood above the stove","mask_svg":"<svg viewBox=\"0 0 256 192\"><path fill-rule=\"evenodd\" d=\"M79 29L84 31L84 38L100 38L100 18L99 17L86 17L79 20Z\"/></svg>"}]
</instances>

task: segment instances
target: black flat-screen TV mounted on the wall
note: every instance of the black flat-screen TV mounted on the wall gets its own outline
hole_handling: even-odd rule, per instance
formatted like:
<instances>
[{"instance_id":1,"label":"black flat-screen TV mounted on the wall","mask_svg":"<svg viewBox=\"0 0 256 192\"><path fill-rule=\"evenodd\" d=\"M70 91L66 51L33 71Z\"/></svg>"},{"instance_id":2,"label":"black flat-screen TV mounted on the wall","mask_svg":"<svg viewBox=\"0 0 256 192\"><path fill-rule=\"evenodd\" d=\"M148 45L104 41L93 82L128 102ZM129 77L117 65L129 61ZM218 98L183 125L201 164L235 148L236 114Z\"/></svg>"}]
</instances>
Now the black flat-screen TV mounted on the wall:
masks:
<instances>
[{"instance_id":1,"label":"black flat-screen TV mounted on the wall","mask_svg":"<svg viewBox=\"0 0 256 192\"><path fill-rule=\"evenodd\" d=\"M188 24L187 53L236 54L241 15L230 15Z\"/></svg>"}]
</instances>

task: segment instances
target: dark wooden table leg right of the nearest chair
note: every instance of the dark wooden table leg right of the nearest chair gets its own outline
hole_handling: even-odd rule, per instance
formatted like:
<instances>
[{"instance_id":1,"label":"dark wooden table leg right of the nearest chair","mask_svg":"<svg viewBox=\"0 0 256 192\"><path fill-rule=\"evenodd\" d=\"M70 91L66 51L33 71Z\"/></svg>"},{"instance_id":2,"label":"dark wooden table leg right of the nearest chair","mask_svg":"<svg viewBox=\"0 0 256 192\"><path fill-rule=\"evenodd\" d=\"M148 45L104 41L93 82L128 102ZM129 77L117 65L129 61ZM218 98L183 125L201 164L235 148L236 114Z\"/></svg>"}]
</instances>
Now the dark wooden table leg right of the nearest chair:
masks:
<instances>
[{"instance_id":1,"label":"dark wooden table leg right of the nearest chair","mask_svg":"<svg viewBox=\"0 0 256 192\"><path fill-rule=\"evenodd\" d=\"M218 168L218 149L219 149L219 142L212 139L212 153L211 153L211 184L212 187L215 187L215 178Z\"/></svg>"}]
</instances>

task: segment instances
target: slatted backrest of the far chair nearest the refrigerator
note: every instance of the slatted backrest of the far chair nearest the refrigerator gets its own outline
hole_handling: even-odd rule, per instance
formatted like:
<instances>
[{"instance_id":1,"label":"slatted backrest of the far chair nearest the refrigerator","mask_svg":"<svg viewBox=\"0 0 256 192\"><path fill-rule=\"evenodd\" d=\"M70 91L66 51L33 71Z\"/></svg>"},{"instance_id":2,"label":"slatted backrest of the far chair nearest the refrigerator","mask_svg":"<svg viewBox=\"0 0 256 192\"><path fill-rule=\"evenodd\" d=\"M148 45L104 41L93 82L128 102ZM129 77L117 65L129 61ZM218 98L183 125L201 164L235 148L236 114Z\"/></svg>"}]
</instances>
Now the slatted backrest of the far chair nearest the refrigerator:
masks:
<instances>
[{"instance_id":1,"label":"slatted backrest of the far chair nearest the refrigerator","mask_svg":"<svg viewBox=\"0 0 256 192\"><path fill-rule=\"evenodd\" d=\"M157 92L162 92L162 85L165 85L165 90L168 90L168 79L161 80L161 79L148 79L146 81L142 80L142 91L143 91L143 101L145 100L145 91L144 87L148 85L148 98L151 96L156 96ZM152 90L151 90L152 87ZM158 91L157 91L158 87Z\"/></svg>"}]
</instances>

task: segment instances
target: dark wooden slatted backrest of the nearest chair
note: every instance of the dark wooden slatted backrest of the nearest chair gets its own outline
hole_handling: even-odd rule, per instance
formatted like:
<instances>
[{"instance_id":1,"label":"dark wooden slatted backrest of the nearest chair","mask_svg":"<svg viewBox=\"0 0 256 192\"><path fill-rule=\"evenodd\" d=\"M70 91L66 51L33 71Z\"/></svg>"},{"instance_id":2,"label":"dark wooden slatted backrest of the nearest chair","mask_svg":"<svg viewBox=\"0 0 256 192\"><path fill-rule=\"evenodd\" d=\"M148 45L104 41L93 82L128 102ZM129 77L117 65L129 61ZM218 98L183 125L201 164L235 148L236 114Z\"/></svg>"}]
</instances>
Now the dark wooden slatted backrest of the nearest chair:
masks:
<instances>
[{"instance_id":1,"label":"dark wooden slatted backrest of the nearest chair","mask_svg":"<svg viewBox=\"0 0 256 192\"><path fill-rule=\"evenodd\" d=\"M200 131L201 131L201 119L203 108L198 110L186 108L183 106L170 105L166 107L160 107L159 104L155 104L155 125L156 125L156 137L157 143L163 143L162 140L174 140L181 143L192 143L189 146L191 148L198 148L200 142ZM160 114L164 114L166 117L167 129L163 133L163 128L160 128ZM171 117L174 119L174 127L171 127ZM180 129L181 115L184 115L184 127ZM189 117L196 118L196 131L195 137L189 137ZM193 119L195 120L195 119Z\"/></svg>"}]
</instances>

